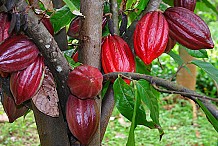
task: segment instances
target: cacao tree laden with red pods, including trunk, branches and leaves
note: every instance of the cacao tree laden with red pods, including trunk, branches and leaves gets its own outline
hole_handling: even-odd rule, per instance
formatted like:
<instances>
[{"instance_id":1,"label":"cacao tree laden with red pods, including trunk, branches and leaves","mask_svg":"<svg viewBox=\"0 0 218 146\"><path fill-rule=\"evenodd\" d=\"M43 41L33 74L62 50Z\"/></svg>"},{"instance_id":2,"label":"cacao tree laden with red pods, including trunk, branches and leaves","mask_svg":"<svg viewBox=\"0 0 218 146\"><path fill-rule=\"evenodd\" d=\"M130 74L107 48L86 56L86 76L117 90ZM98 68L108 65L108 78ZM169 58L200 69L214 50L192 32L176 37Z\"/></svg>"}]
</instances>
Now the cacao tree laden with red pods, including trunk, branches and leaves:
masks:
<instances>
[{"instance_id":1,"label":"cacao tree laden with red pods, including trunk, branches and leaves","mask_svg":"<svg viewBox=\"0 0 218 146\"><path fill-rule=\"evenodd\" d=\"M216 8L203 1L217 14ZM116 105L134 130L159 131L160 93L180 94L201 107L218 131L217 98L154 76L152 62L172 49L215 49L194 0L8 0L0 7L3 107L13 122L33 110L42 146L101 145ZM196 56L195 56L196 57ZM209 62L189 62L218 83ZM149 113L150 118L146 113Z\"/></svg>"}]
</instances>

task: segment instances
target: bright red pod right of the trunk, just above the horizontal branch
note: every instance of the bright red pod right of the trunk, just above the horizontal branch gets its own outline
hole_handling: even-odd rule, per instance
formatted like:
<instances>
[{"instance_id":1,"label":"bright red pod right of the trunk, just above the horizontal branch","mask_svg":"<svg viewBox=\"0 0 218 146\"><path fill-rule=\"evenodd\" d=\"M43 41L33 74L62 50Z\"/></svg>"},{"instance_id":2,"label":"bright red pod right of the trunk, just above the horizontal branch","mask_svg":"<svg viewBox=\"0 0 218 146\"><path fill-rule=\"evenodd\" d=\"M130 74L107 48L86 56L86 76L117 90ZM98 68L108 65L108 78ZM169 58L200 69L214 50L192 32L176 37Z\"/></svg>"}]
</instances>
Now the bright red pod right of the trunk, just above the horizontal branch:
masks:
<instances>
[{"instance_id":1,"label":"bright red pod right of the trunk, just above the horizontal branch","mask_svg":"<svg viewBox=\"0 0 218 146\"><path fill-rule=\"evenodd\" d=\"M109 35L103 39L101 60L105 73L135 72L132 51L127 43L117 35Z\"/></svg>"}]
</instances>

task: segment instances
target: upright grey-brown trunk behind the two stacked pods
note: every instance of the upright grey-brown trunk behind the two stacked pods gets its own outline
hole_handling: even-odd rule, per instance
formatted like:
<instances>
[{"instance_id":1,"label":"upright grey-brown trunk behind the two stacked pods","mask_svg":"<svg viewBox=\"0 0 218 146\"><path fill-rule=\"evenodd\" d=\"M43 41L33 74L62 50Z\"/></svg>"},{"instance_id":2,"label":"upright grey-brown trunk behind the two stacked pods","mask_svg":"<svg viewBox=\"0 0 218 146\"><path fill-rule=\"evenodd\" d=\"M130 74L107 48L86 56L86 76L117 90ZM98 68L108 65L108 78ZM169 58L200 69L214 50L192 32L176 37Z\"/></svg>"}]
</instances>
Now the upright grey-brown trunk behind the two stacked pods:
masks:
<instances>
[{"instance_id":1,"label":"upright grey-brown trunk behind the two stacked pods","mask_svg":"<svg viewBox=\"0 0 218 146\"><path fill-rule=\"evenodd\" d=\"M80 31L79 61L101 70L103 1L81 0L80 11L84 19ZM101 99L96 98L95 101L101 113ZM100 124L89 145L100 146Z\"/></svg>"}]
</instances>

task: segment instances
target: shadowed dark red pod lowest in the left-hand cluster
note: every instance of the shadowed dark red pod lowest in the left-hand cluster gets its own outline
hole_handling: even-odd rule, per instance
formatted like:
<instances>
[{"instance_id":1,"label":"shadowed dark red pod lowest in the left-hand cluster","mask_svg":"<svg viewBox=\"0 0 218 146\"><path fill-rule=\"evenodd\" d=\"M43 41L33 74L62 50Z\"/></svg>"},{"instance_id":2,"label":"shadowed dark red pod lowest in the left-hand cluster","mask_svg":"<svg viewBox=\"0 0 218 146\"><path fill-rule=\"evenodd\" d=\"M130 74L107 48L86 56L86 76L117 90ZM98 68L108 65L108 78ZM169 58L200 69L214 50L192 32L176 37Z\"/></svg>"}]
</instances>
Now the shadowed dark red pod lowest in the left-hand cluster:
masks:
<instances>
[{"instance_id":1,"label":"shadowed dark red pod lowest in the left-hand cluster","mask_svg":"<svg viewBox=\"0 0 218 146\"><path fill-rule=\"evenodd\" d=\"M2 105L8 116L9 122L13 123L16 119L23 116L27 112L28 108L23 105L16 105L13 97L11 96L3 92Z\"/></svg>"}]
</instances>

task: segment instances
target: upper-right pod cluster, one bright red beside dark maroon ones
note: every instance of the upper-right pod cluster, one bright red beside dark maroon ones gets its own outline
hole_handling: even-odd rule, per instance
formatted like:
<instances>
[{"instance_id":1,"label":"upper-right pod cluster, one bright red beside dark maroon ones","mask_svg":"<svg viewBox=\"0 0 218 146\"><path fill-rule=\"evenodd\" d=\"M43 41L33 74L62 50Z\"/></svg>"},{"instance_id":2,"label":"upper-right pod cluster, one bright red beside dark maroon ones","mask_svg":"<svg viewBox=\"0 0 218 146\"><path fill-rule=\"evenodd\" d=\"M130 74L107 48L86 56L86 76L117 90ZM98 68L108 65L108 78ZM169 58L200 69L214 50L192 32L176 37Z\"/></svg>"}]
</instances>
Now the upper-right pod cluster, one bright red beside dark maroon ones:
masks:
<instances>
[{"instance_id":1,"label":"upper-right pod cluster, one bright red beside dark maroon ones","mask_svg":"<svg viewBox=\"0 0 218 146\"><path fill-rule=\"evenodd\" d=\"M192 50L213 48L208 26L193 12L195 5L196 0L175 0L164 13L146 13L134 32L136 55L148 65L176 42Z\"/></svg>"}]
</instances>

